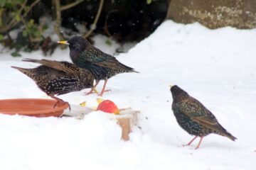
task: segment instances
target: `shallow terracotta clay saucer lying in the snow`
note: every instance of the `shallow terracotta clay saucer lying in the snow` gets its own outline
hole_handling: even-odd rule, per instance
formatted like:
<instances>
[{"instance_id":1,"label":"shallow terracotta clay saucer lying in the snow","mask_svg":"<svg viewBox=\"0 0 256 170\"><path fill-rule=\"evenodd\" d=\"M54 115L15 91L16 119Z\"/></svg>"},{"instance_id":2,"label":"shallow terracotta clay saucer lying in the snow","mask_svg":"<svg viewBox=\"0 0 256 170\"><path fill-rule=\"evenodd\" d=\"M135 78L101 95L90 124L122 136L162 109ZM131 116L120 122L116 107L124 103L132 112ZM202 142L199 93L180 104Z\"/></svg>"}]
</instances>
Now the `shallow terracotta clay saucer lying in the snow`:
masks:
<instances>
[{"instance_id":1,"label":"shallow terracotta clay saucer lying in the snow","mask_svg":"<svg viewBox=\"0 0 256 170\"><path fill-rule=\"evenodd\" d=\"M14 98L0 100L0 113L8 115L30 115L36 117L58 117L63 114L67 103L59 103L55 108L56 101L41 98Z\"/></svg>"}]
</instances>

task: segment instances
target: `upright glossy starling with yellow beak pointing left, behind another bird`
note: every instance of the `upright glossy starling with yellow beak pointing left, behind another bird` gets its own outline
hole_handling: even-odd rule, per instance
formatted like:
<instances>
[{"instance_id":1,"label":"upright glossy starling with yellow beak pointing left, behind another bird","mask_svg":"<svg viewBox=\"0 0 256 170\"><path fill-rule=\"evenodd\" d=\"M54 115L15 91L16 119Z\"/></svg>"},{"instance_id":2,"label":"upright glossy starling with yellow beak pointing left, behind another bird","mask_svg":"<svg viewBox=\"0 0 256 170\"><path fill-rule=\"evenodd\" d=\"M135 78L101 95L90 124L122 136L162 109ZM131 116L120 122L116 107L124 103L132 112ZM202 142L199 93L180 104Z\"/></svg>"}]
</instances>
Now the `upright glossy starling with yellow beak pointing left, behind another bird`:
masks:
<instances>
[{"instance_id":1,"label":"upright glossy starling with yellow beak pointing left, behind another bird","mask_svg":"<svg viewBox=\"0 0 256 170\"><path fill-rule=\"evenodd\" d=\"M105 80L99 96L103 95L107 79L110 79L110 77L123 72L136 72L133 68L119 62L112 55L107 55L97 47L92 46L85 38L75 36L68 41L58 41L58 43L70 47L70 58L75 65L92 72L96 80L94 87L99 84L100 80ZM92 90L88 94L91 92Z\"/></svg>"}]
</instances>

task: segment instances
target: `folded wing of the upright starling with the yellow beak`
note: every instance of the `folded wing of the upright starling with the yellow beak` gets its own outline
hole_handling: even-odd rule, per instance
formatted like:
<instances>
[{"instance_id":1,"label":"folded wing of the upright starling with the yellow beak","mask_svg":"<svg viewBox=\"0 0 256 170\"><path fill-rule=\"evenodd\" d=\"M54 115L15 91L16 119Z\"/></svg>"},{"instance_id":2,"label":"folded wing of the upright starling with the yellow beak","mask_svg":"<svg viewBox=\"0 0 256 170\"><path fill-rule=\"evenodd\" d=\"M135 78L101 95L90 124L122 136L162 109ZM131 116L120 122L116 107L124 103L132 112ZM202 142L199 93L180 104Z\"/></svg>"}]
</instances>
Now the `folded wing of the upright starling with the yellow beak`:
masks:
<instances>
[{"instance_id":1,"label":"folded wing of the upright starling with the yellow beak","mask_svg":"<svg viewBox=\"0 0 256 170\"><path fill-rule=\"evenodd\" d=\"M85 50L85 52L82 52L81 56L86 56L82 57L83 60L86 60L87 62L91 62L92 64L96 64L101 67L120 69L124 71L134 71L133 68L127 67L126 65L120 63L112 55L107 55L105 52L102 52L97 48Z\"/></svg>"}]
</instances>

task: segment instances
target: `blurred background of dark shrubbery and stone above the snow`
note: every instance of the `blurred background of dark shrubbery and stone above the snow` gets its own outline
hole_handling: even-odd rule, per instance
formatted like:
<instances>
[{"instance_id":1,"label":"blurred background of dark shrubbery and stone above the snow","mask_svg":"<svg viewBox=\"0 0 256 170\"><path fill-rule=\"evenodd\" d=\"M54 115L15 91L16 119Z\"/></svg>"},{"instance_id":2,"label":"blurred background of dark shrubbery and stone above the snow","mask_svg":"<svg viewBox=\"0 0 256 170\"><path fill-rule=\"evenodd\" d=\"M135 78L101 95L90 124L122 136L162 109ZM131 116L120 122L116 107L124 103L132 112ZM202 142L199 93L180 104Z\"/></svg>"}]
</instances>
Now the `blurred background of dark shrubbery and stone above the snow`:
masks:
<instances>
[{"instance_id":1,"label":"blurred background of dark shrubbery and stone above the snow","mask_svg":"<svg viewBox=\"0 0 256 170\"><path fill-rule=\"evenodd\" d=\"M255 18L255 0L0 0L0 42L14 57L33 50L51 55L57 40L73 35L122 44L143 40L166 19L245 29L255 28Z\"/></svg>"}]
</instances>

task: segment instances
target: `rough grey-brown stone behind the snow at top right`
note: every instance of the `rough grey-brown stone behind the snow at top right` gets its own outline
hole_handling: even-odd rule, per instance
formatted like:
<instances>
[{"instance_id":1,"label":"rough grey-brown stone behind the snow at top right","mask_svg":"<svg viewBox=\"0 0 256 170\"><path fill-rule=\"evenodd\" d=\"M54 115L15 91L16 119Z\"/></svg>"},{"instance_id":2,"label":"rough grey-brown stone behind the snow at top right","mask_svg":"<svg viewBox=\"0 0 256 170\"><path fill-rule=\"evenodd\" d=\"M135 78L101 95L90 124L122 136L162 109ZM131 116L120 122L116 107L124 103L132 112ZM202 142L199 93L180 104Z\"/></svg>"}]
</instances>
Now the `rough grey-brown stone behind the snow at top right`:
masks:
<instances>
[{"instance_id":1,"label":"rough grey-brown stone behind the snow at top right","mask_svg":"<svg viewBox=\"0 0 256 170\"><path fill-rule=\"evenodd\" d=\"M171 0L167 19L208 28L256 28L256 0Z\"/></svg>"}]
</instances>

